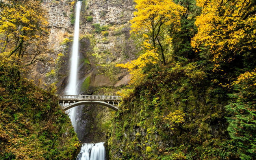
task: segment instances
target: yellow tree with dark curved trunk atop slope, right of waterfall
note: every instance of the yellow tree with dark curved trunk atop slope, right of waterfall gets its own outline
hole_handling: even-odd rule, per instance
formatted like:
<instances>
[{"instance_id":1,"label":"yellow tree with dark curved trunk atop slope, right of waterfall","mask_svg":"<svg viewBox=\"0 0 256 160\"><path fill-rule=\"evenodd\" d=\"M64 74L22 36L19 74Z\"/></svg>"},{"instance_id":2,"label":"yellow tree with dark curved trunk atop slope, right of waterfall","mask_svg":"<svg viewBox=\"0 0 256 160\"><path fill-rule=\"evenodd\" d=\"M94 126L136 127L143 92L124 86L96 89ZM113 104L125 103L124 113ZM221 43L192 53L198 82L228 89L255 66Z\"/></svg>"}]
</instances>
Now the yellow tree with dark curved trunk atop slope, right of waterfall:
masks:
<instances>
[{"instance_id":1,"label":"yellow tree with dark curved trunk atop slope, right of waterfall","mask_svg":"<svg viewBox=\"0 0 256 160\"><path fill-rule=\"evenodd\" d=\"M134 12L131 33L143 34L149 39L154 48L159 47L163 63L166 64L164 48L161 44L164 33L170 25L178 28L180 25L180 14L184 8L175 4L172 0L135 0L137 3Z\"/></svg>"}]
</instances>

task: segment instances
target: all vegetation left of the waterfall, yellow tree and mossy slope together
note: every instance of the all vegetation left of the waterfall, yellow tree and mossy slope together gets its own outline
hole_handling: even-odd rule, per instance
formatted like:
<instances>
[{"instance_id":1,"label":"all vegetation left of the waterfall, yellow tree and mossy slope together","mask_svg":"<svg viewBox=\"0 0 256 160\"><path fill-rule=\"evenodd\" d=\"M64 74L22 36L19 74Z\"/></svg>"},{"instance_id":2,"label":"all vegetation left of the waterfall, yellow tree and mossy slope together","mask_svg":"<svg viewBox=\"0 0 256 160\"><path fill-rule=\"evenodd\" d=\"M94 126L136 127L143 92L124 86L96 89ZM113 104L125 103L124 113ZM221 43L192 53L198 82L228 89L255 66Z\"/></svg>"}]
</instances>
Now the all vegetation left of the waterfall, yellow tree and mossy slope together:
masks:
<instances>
[{"instance_id":1,"label":"all vegetation left of the waterfall, yellow tree and mossy slope together","mask_svg":"<svg viewBox=\"0 0 256 160\"><path fill-rule=\"evenodd\" d=\"M23 76L50 52L45 10L38 0L0 6L0 160L73 160L80 144L56 88L45 91Z\"/></svg>"}]
</instances>

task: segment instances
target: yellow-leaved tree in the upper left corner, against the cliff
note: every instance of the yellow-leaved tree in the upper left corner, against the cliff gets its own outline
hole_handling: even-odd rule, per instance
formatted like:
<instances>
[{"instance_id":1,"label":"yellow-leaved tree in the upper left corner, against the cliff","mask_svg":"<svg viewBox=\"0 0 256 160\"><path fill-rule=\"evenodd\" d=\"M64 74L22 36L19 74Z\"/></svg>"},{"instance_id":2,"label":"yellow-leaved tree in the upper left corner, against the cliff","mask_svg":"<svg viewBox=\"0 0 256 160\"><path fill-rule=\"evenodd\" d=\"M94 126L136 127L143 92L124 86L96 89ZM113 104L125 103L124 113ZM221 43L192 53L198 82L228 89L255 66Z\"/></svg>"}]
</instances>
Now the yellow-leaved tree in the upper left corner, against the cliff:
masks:
<instances>
[{"instance_id":1,"label":"yellow-leaved tree in the upper left corner, against the cliff","mask_svg":"<svg viewBox=\"0 0 256 160\"><path fill-rule=\"evenodd\" d=\"M48 33L45 11L37 0L12 0L0 13L0 53L9 58L24 59L29 65L43 52ZM30 61L28 63L28 61Z\"/></svg>"}]
</instances>

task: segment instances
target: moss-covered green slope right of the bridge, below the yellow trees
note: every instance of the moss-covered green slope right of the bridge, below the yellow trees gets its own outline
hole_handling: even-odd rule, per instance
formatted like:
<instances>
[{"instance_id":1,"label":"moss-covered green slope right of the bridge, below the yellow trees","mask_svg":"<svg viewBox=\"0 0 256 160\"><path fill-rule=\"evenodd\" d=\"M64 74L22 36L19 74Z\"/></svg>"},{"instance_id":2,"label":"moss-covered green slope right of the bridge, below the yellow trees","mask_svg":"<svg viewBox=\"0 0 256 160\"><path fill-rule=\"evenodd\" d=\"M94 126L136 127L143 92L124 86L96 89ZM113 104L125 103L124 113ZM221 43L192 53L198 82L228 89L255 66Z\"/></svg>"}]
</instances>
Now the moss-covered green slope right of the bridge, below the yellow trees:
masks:
<instances>
[{"instance_id":1,"label":"moss-covered green slope right of the bridge, below the yellow trees","mask_svg":"<svg viewBox=\"0 0 256 160\"><path fill-rule=\"evenodd\" d=\"M226 93L200 68L178 62L150 71L113 120L111 160L237 158L226 131Z\"/></svg>"}]
</instances>

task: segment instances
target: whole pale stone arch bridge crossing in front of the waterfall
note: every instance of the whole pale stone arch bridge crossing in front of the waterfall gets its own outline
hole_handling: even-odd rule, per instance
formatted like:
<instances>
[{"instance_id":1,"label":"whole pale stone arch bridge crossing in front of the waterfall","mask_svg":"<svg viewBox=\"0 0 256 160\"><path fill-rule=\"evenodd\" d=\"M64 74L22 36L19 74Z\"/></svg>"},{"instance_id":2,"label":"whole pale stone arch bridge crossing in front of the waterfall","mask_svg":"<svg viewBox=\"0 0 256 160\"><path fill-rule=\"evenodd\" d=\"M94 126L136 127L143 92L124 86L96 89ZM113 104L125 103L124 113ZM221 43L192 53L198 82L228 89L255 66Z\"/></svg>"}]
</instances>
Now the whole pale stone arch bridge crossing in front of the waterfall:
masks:
<instances>
[{"instance_id":1,"label":"whole pale stone arch bridge crossing in front of the waterfall","mask_svg":"<svg viewBox=\"0 0 256 160\"><path fill-rule=\"evenodd\" d=\"M59 105L63 110L85 104L104 105L115 111L118 111L121 96L96 96L96 95L56 95L59 99Z\"/></svg>"}]
</instances>

